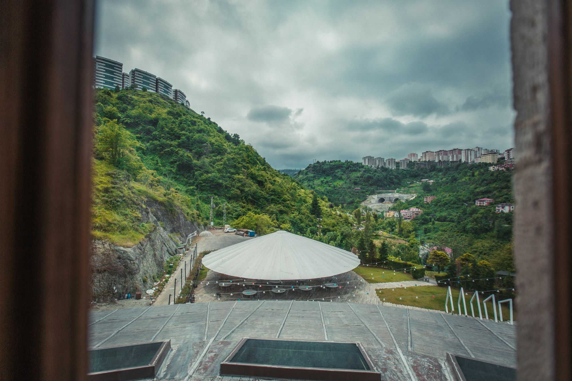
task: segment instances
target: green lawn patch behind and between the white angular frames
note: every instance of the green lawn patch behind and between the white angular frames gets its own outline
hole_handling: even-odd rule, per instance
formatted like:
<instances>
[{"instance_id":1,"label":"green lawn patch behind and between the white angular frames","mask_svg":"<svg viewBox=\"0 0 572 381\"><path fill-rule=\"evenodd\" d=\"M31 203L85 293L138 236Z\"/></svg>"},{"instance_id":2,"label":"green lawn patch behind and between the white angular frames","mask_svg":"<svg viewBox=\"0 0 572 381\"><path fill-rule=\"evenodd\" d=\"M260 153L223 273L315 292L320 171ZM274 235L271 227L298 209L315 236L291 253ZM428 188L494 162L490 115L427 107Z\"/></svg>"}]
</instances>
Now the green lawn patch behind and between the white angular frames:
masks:
<instances>
[{"instance_id":1,"label":"green lawn patch behind and between the white angular frames","mask_svg":"<svg viewBox=\"0 0 572 381\"><path fill-rule=\"evenodd\" d=\"M438 309L439 311L445 311L445 297L447 295L446 287L438 286L417 286L417 287L407 287L407 288L394 288L395 291L391 291L391 288L378 289L378 297L382 301L387 301L388 303L402 304L402 305L412 305L414 307L428 308L428 309ZM457 300L459 299L459 290L451 288L453 293L453 306L455 307L455 313L457 311ZM418 297L417 299L415 297ZM480 295L479 295L480 296ZM402 298L401 300L399 298ZM472 293L465 295L465 300L467 301L467 313L471 315L471 306L469 301L471 300ZM383 300L385 298L385 300ZM451 312L451 302L449 302L449 312ZM473 308L475 309L475 316L478 316L478 308L476 307L476 300L473 302ZM480 306L482 308L483 301L480 299ZM461 308L463 308L463 300L461 300ZM514 305L513 305L514 308ZM492 312L492 305L490 301L487 302L488 318L494 319L494 312ZM464 312L464 309L463 309ZM483 319L484 319L484 309L482 309ZM514 320L517 320L517 313L513 309ZM503 320L509 320L509 306L503 305L502 307ZM500 317L499 317L500 318Z\"/></svg>"}]
</instances>

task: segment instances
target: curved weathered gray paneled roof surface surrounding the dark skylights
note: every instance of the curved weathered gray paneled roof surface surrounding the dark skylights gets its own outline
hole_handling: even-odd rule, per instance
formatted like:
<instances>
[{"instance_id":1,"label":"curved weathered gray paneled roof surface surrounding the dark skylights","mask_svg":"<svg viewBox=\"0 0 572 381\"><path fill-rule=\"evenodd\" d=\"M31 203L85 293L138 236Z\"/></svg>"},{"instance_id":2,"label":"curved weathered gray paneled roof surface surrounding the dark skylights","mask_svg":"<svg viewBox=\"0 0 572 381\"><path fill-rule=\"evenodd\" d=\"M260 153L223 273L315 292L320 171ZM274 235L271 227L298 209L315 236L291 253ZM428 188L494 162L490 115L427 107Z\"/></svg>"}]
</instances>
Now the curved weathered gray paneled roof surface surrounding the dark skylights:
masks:
<instances>
[{"instance_id":1,"label":"curved weathered gray paneled roof surface surrounding the dark skylights","mask_svg":"<svg viewBox=\"0 0 572 381\"><path fill-rule=\"evenodd\" d=\"M171 340L158 380L216 378L245 337L360 342L391 380L447 380L447 352L516 366L515 326L387 305L221 301L98 311L89 319L92 348Z\"/></svg>"}]
</instances>

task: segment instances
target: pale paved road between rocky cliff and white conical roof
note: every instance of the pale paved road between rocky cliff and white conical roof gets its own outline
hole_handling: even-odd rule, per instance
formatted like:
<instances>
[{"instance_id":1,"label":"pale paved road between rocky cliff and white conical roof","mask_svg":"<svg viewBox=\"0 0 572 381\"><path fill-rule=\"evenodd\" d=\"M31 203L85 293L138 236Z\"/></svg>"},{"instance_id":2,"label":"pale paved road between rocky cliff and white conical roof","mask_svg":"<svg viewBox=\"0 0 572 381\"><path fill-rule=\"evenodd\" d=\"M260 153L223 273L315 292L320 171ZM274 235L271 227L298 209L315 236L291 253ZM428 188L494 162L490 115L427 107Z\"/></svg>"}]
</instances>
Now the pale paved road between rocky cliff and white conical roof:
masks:
<instances>
[{"instance_id":1,"label":"pale paved road between rocky cliff and white conical roof","mask_svg":"<svg viewBox=\"0 0 572 381\"><path fill-rule=\"evenodd\" d=\"M252 237L243 237L236 235L235 233L223 233L221 230L217 231L210 231L213 233L212 236L207 237L198 237L197 240L193 240L194 244L197 244L197 252L200 253L201 251L205 250L218 250L225 248L227 246L231 246L237 243L244 242L246 240L252 239ZM163 292L157 296L157 299L154 301L153 305L164 305L169 304L169 294L171 294L171 303L173 303L173 289L174 289L174 279L177 279L177 295L181 291L181 268L183 272L185 271L185 261L186 261L186 271L190 271L190 258L192 256L193 251L190 250L186 253L184 259L182 259L179 263L179 267L176 271L173 271L173 276L169 279L168 283L165 285Z\"/></svg>"}]
</instances>

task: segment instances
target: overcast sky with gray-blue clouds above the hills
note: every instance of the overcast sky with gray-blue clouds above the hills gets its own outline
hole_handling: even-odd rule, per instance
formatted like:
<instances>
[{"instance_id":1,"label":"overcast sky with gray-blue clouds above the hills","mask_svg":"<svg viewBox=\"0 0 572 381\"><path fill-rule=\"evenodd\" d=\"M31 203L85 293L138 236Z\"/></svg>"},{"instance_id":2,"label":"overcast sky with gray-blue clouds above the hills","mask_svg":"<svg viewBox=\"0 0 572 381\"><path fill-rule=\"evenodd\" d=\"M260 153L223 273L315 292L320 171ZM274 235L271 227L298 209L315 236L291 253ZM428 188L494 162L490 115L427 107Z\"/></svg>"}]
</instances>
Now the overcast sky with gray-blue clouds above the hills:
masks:
<instances>
[{"instance_id":1,"label":"overcast sky with gray-blue clouds above the hills","mask_svg":"<svg viewBox=\"0 0 572 381\"><path fill-rule=\"evenodd\" d=\"M514 145L508 0L100 0L94 55L276 169Z\"/></svg>"}]
</instances>

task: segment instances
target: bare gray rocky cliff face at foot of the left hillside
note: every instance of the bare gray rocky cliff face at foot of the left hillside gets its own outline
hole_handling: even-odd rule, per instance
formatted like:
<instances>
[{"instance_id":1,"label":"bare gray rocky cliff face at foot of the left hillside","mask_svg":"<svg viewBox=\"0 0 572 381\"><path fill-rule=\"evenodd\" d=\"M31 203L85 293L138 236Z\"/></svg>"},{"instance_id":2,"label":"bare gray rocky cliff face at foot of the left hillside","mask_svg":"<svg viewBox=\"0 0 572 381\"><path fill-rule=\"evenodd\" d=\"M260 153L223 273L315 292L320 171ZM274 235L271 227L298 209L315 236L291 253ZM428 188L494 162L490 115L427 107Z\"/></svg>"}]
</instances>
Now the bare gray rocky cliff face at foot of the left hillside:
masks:
<instances>
[{"instance_id":1,"label":"bare gray rocky cliff face at foot of the left hillside","mask_svg":"<svg viewBox=\"0 0 572 381\"><path fill-rule=\"evenodd\" d=\"M155 228L133 247L121 247L104 240L92 242L92 300L106 300L152 287L166 260L177 251L186 236L206 227L186 220L178 209L149 200L141 208L141 222Z\"/></svg>"}]
</instances>

